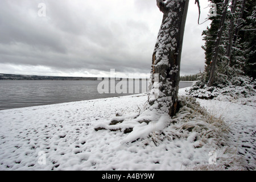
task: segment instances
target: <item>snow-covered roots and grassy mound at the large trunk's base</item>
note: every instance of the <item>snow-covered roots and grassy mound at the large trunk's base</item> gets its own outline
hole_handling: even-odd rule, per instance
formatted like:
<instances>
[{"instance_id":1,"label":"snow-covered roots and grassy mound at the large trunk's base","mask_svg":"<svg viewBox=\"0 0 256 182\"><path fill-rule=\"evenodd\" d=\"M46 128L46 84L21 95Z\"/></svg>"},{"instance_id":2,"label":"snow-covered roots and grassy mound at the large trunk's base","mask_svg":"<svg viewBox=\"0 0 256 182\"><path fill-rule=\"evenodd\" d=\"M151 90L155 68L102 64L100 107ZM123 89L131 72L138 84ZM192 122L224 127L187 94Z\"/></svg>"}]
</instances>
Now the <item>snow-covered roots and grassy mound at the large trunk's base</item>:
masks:
<instances>
[{"instance_id":1,"label":"snow-covered roots and grassy mound at the large trunk's base","mask_svg":"<svg viewBox=\"0 0 256 182\"><path fill-rule=\"evenodd\" d=\"M172 118L154 109L146 109L141 114L118 113L110 122L100 123L94 129L129 133L123 143L151 138L156 144L164 139L183 138L196 142L195 147L202 147L209 141L217 146L226 144L229 127L221 118L210 115L190 96L181 96L178 107L179 111Z\"/></svg>"}]
</instances>

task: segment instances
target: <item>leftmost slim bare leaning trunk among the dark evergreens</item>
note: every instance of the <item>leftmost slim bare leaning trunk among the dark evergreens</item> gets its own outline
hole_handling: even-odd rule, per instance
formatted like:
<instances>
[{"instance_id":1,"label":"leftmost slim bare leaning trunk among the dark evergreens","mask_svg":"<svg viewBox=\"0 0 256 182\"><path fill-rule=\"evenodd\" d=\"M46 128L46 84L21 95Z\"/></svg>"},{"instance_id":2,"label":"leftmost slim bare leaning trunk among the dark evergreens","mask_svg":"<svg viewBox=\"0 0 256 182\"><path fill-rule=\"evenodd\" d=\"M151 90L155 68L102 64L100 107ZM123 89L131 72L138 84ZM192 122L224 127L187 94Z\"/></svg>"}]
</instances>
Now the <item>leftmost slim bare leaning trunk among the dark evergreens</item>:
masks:
<instances>
[{"instance_id":1,"label":"leftmost slim bare leaning trunk among the dark evergreens","mask_svg":"<svg viewBox=\"0 0 256 182\"><path fill-rule=\"evenodd\" d=\"M213 86L214 73L215 73L217 59L218 59L218 51L219 51L219 46L221 43L221 36L222 36L222 32L224 29L224 23L225 23L225 19L226 19L226 12L228 9L228 2L229 2L229 0L225 0L225 2L224 2L224 10L223 10L223 13L221 16L220 26L218 28L218 35L217 35L217 39L215 41L215 47L214 47L214 51L213 51L212 61L210 61L210 72L209 72L208 86Z\"/></svg>"}]
</instances>

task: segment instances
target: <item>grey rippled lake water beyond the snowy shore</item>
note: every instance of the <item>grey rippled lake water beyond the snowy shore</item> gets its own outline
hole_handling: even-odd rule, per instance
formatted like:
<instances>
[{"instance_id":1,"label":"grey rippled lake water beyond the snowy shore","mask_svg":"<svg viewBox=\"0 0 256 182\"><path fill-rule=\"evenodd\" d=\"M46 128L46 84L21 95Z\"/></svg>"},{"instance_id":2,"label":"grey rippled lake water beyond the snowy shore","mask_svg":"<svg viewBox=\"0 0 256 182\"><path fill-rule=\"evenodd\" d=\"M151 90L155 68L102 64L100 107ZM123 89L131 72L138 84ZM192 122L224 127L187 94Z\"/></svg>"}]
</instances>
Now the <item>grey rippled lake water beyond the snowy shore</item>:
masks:
<instances>
[{"instance_id":1,"label":"grey rippled lake water beyond the snowy shore","mask_svg":"<svg viewBox=\"0 0 256 182\"><path fill-rule=\"evenodd\" d=\"M115 81L115 85L119 81ZM19 107L59 104L63 102L92 100L97 98L127 96L142 93L142 81L139 90L133 93L98 93L98 84L93 80L0 80L0 110ZM109 82L110 83L110 82ZM191 86L192 82L180 82L180 88ZM109 84L110 86L110 84ZM102 87L104 88L104 87ZM120 87L119 87L120 88ZM121 87L122 88L122 87ZM129 86L127 85L127 88ZM115 87L112 87L112 91ZM129 90L127 89L127 92Z\"/></svg>"}]
</instances>

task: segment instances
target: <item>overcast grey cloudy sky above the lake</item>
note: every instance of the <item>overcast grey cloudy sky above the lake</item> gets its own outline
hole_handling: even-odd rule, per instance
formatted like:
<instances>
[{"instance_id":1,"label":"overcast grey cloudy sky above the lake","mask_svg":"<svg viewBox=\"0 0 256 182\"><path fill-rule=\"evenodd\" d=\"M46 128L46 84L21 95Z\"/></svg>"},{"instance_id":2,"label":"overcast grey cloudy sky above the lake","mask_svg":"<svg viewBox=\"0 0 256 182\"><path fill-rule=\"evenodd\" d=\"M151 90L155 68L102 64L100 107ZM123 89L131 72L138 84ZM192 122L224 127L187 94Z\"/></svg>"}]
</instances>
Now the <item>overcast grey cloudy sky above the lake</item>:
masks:
<instances>
[{"instance_id":1,"label":"overcast grey cloudy sky above the lake","mask_svg":"<svg viewBox=\"0 0 256 182\"><path fill-rule=\"evenodd\" d=\"M189 3L181 75L204 69L198 9ZM38 6L43 3L44 9ZM208 1L201 3L207 18ZM163 14L156 0L1 0L0 73L117 76L150 73Z\"/></svg>"}]
</instances>

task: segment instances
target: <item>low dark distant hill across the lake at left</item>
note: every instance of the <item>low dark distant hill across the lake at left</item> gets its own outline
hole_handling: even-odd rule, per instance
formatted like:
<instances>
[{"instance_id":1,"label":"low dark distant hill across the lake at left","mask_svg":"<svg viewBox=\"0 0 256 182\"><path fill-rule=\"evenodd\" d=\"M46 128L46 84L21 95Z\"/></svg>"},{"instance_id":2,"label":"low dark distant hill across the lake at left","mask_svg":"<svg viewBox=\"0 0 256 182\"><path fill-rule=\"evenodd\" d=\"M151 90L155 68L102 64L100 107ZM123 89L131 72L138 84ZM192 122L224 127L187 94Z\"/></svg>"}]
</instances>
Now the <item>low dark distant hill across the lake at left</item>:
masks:
<instances>
[{"instance_id":1,"label":"low dark distant hill across the lake at left","mask_svg":"<svg viewBox=\"0 0 256 182\"><path fill-rule=\"evenodd\" d=\"M0 80L97 80L97 77L38 76L0 73Z\"/></svg>"}]
</instances>

